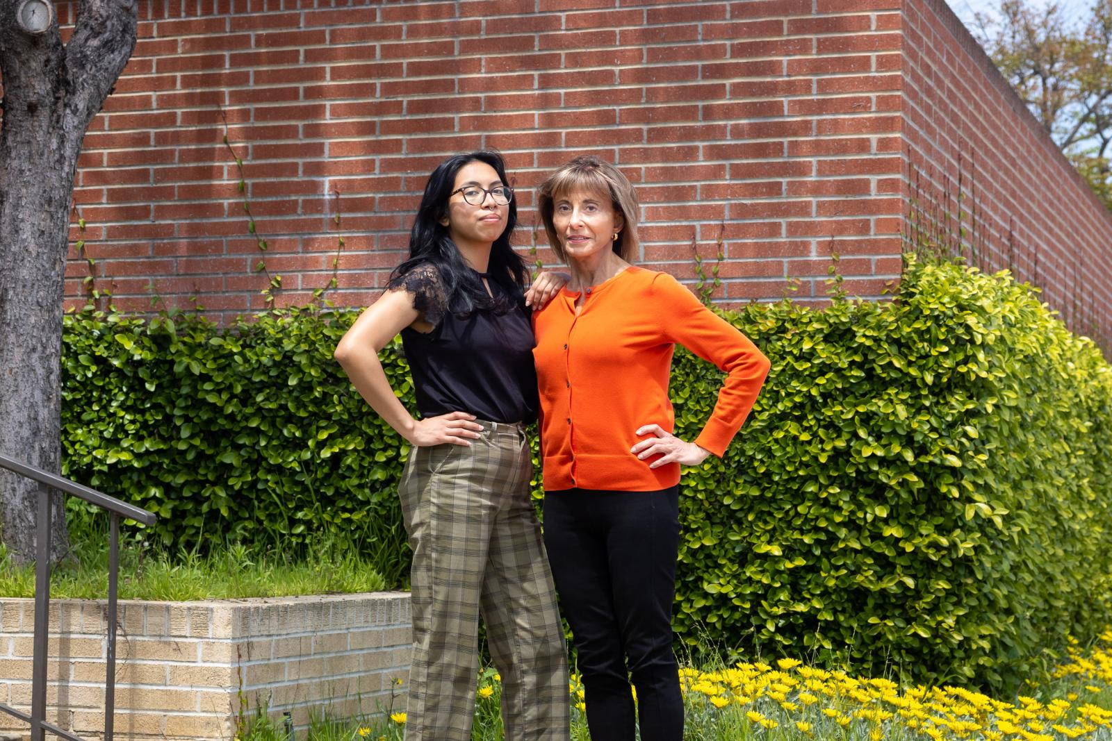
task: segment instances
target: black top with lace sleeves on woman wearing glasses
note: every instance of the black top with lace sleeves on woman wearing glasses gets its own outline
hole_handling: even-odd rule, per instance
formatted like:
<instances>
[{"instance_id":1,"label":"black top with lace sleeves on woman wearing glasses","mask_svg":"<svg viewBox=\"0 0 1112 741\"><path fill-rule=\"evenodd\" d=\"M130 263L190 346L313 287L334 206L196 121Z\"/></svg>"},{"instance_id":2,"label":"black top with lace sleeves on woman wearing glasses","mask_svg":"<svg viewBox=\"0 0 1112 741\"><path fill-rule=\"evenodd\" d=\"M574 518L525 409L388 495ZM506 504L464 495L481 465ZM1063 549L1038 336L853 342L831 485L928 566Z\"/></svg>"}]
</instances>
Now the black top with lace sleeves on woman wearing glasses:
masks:
<instances>
[{"instance_id":1,"label":"black top with lace sleeves on woman wearing glasses","mask_svg":"<svg viewBox=\"0 0 1112 741\"><path fill-rule=\"evenodd\" d=\"M485 277L485 276L484 276ZM508 282L508 281L507 281ZM423 417L461 411L493 422L532 422L537 417L533 327L520 291L487 280L492 291L514 298L506 313L478 310L466 318L447 310L440 273L423 264L390 281L405 289L431 332L401 330L401 344Z\"/></svg>"}]
</instances>

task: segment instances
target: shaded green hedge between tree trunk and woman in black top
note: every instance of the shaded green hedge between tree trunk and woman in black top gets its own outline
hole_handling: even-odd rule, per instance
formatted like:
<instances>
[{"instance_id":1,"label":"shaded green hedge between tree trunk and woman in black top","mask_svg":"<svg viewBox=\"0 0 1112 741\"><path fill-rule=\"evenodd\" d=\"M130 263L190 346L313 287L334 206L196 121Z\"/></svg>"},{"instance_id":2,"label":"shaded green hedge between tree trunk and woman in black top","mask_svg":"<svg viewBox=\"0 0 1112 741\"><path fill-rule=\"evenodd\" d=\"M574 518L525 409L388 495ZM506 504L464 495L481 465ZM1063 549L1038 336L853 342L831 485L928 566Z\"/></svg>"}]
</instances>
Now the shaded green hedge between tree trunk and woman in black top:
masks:
<instances>
[{"instance_id":1,"label":"shaded green hedge between tree trunk and woman in black top","mask_svg":"<svg viewBox=\"0 0 1112 741\"><path fill-rule=\"evenodd\" d=\"M407 451L332 360L353 318L288 310L220 328L198 314L68 316L64 474L155 512L168 547L292 548L332 531L378 551L397 583ZM384 367L411 403L399 350Z\"/></svg>"}]
</instances>

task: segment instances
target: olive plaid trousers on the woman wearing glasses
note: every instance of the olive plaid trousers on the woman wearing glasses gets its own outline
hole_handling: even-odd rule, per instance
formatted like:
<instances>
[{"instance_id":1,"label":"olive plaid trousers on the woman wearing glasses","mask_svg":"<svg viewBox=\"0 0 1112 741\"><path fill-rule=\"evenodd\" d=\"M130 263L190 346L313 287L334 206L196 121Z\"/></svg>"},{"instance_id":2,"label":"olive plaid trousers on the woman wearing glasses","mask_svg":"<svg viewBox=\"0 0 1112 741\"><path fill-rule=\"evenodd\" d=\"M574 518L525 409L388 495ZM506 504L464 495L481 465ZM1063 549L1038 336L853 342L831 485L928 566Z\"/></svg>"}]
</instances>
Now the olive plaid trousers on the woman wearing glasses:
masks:
<instances>
[{"instance_id":1,"label":"olive plaid trousers on the woman wearing glasses","mask_svg":"<svg viewBox=\"0 0 1112 741\"><path fill-rule=\"evenodd\" d=\"M567 654L525 430L477 421L470 447L410 449L398 484L414 551L406 741L471 738L480 612L506 741L567 741Z\"/></svg>"}]
</instances>

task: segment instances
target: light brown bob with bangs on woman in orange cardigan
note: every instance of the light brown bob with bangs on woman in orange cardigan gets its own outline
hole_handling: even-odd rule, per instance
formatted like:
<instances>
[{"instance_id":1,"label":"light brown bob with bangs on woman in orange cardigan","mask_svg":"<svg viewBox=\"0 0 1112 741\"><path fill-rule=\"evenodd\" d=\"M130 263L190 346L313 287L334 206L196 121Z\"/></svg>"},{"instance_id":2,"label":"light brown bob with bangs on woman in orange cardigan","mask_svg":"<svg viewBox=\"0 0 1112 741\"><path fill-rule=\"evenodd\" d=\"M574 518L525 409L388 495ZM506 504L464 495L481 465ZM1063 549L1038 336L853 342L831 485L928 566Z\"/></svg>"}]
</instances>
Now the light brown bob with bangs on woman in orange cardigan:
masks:
<instances>
[{"instance_id":1,"label":"light brown bob with bangs on woman in orange cardigan","mask_svg":"<svg viewBox=\"0 0 1112 741\"><path fill-rule=\"evenodd\" d=\"M639 251L637 214L641 207L637 204L637 193L616 167L594 154L577 157L563 166L540 183L537 192L537 209L540 211L540 219L548 234L548 243L556 257L565 264L568 261L564 246L556 233L556 227L553 224L556 201L576 191L609 198L615 213L620 214L625 222L614 242L614 253L626 262L633 262L634 256Z\"/></svg>"}]
</instances>

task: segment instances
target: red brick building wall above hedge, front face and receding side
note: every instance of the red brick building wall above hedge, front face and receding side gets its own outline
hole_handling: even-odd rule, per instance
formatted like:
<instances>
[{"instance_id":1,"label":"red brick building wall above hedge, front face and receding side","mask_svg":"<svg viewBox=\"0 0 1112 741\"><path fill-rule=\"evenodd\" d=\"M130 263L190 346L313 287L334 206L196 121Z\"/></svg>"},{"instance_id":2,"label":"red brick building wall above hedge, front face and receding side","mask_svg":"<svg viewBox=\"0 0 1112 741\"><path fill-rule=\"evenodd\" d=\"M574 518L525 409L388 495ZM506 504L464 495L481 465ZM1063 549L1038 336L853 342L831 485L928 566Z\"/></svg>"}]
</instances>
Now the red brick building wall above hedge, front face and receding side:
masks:
<instances>
[{"instance_id":1,"label":"red brick building wall above hedge, front face and receding side","mask_svg":"<svg viewBox=\"0 0 1112 741\"><path fill-rule=\"evenodd\" d=\"M979 164L995 166L979 184L1015 182L1004 164L1017 142L1071 199L1049 219L1022 192L993 194L997 221L1012 214L1022 241L1063 254L1106 248L1112 234L941 1L139 4L140 41L87 137L76 196L97 284L120 307L149 308L150 284L171 304L262 306L218 106L268 270L282 276L280 302L328 282L338 233L346 251L330 297L371 300L401 258L429 170L478 147L506 154L526 227L530 187L553 167L585 151L616 162L639 184L639 261L691 280L693 240L713 263L722 234L717 298L728 303L780 298L786 276L801 281L796 299L821 300L832 240L850 292L881 296L900 269L907 144L913 160L941 167L966 130L1027 137L979 144ZM949 46L926 49L940 33ZM982 110L984 90L995 108ZM528 248L528 228L518 242ZM86 272L71 260L70 303ZM1046 276L1069 278L1059 272Z\"/></svg>"}]
</instances>

